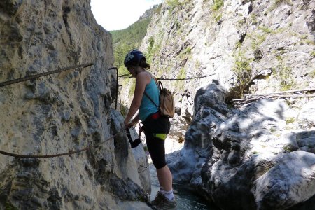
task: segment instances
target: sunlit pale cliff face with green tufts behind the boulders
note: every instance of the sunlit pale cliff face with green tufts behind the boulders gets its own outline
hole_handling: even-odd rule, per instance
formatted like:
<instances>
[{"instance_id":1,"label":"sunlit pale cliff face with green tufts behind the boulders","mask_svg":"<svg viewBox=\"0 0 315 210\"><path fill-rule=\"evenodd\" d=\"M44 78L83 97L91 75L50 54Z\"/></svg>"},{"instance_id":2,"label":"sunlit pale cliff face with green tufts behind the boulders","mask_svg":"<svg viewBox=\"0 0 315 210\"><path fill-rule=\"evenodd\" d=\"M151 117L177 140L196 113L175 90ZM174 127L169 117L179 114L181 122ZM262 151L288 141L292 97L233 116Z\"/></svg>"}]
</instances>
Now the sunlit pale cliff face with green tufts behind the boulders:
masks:
<instances>
[{"instance_id":1,"label":"sunlit pale cliff face with green tufts behind the boulders","mask_svg":"<svg viewBox=\"0 0 315 210\"><path fill-rule=\"evenodd\" d=\"M176 126L192 122L195 94L211 80L228 100L315 87L314 1L220 2L163 1L141 44L158 78L197 77L163 81L180 110Z\"/></svg>"}]
</instances>

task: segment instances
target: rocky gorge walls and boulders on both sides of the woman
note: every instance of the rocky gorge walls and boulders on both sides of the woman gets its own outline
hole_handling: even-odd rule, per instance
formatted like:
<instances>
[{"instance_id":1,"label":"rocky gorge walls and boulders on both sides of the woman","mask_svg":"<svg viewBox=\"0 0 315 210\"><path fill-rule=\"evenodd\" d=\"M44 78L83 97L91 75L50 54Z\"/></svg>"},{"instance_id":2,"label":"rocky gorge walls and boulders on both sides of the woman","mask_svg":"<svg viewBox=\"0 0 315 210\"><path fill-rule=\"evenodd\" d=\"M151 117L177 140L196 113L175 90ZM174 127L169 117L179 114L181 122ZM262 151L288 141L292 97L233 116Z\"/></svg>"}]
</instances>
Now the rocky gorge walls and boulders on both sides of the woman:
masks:
<instances>
[{"instance_id":1,"label":"rocky gorge walls and boulders on both sides of the woman","mask_svg":"<svg viewBox=\"0 0 315 210\"><path fill-rule=\"evenodd\" d=\"M167 0L139 49L174 92L174 182L219 209L315 209L315 2ZM89 0L0 2L0 209L151 209ZM120 66L117 66L120 68ZM120 68L120 72L121 72ZM190 78L195 78L190 80ZM132 79L119 80L120 107ZM132 130L132 138L137 133ZM168 141L168 140L167 140ZM143 142L145 144L145 142Z\"/></svg>"}]
</instances>

